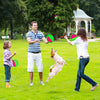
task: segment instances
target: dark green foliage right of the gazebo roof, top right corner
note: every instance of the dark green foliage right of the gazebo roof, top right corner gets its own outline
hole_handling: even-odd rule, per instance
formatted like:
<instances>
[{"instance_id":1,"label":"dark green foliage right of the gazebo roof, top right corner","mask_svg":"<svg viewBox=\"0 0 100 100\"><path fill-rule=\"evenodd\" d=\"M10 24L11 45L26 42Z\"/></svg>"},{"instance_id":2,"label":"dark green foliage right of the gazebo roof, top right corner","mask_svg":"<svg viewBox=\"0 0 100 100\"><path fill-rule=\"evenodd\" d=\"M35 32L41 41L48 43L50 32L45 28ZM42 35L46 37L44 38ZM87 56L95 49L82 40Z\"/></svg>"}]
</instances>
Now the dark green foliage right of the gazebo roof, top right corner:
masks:
<instances>
[{"instance_id":1,"label":"dark green foliage right of the gazebo roof, top right corner","mask_svg":"<svg viewBox=\"0 0 100 100\"><path fill-rule=\"evenodd\" d=\"M97 34L100 31L100 0L78 0L78 3L80 9L93 17L93 24Z\"/></svg>"}]
</instances>

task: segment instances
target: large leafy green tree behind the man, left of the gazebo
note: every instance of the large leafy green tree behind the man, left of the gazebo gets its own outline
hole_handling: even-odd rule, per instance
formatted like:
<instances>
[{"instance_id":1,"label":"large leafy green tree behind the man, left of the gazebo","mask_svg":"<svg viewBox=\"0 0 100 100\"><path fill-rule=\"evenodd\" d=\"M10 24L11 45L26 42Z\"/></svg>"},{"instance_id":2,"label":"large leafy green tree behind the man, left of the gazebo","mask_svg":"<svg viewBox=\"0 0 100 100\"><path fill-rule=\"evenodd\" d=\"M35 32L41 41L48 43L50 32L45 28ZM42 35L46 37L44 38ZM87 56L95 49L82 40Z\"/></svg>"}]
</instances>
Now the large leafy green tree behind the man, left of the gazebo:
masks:
<instances>
[{"instance_id":1,"label":"large leafy green tree behind the man, left of the gazebo","mask_svg":"<svg viewBox=\"0 0 100 100\"><path fill-rule=\"evenodd\" d=\"M41 31L52 33L57 39L59 33L72 21L77 0L26 0L29 22L36 20ZM55 15L58 19L55 19Z\"/></svg>"}]
</instances>

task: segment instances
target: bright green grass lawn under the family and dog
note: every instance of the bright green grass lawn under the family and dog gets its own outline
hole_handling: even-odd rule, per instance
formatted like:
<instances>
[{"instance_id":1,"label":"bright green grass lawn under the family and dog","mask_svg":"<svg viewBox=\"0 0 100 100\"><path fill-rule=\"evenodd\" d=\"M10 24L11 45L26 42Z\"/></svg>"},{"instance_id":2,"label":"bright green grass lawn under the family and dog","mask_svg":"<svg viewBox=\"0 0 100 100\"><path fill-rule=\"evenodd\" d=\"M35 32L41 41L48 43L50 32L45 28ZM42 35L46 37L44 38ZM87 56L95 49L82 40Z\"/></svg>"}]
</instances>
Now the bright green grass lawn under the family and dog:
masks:
<instances>
[{"instance_id":1,"label":"bright green grass lawn under the family and dog","mask_svg":"<svg viewBox=\"0 0 100 100\"><path fill-rule=\"evenodd\" d=\"M51 48L63 57L68 65L64 65L61 72L53 77L45 86L40 85L39 75L35 66L34 85L31 87L27 72L26 40L12 40L11 52L17 52L13 59L19 62L18 67L11 68L11 82L14 87L5 88L5 74L3 66L3 42L0 40L0 100L100 100L100 87L90 91L91 85L82 80L80 92L74 92L78 60L76 46L69 45L65 40L45 44L41 42L43 59L43 81L45 82L49 67L54 64L50 58ZM90 62L85 73L100 84L100 41L90 42L88 47Z\"/></svg>"}]
</instances>

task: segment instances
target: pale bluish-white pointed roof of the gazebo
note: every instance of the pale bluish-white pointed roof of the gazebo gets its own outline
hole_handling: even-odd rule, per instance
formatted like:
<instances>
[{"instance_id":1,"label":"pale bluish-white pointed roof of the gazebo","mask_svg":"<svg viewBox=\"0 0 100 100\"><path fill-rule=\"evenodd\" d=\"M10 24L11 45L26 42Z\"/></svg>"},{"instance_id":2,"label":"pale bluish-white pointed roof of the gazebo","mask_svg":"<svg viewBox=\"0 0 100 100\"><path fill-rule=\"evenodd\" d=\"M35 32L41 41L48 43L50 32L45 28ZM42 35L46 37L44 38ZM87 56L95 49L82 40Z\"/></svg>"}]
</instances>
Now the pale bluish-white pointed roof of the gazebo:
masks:
<instances>
[{"instance_id":1,"label":"pale bluish-white pointed roof of the gazebo","mask_svg":"<svg viewBox=\"0 0 100 100\"><path fill-rule=\"evenodd\" d=\"M74 19L93 19L92 17L88 16L82 9L77 9L73 11Z\"/></svg>"}]
</instances>

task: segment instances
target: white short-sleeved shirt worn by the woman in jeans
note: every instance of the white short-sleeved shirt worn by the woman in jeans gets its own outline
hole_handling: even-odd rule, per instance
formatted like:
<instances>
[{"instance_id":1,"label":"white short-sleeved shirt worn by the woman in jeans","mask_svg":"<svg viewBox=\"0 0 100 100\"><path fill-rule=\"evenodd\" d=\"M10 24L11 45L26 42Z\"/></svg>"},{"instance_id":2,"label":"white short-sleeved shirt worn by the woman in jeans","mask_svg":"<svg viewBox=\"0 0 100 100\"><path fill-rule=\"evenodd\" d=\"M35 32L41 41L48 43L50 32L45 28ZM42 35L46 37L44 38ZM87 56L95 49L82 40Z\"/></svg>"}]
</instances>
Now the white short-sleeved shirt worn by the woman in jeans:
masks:
<instances>
[{"instance_id":1,"label":"white short-sleeved shirt worn by the woman in jeans","mask_svg":"<svg viewBox=\"0 0 100 100\"><path fill-rule=\"evenodd\" d=\"M72 45L77 45L77 56L80 58L80 56L83 56L84 58L89 57L88 54L88 41L83 41L81 37L78 37L75 41L71 42Z\"/></svg>"}]
</instances>

